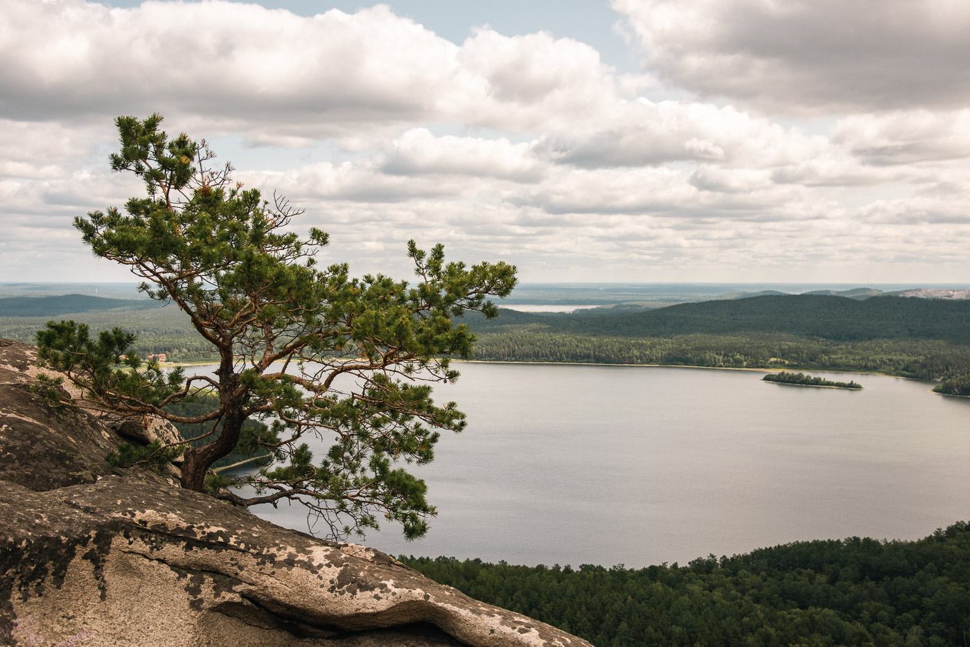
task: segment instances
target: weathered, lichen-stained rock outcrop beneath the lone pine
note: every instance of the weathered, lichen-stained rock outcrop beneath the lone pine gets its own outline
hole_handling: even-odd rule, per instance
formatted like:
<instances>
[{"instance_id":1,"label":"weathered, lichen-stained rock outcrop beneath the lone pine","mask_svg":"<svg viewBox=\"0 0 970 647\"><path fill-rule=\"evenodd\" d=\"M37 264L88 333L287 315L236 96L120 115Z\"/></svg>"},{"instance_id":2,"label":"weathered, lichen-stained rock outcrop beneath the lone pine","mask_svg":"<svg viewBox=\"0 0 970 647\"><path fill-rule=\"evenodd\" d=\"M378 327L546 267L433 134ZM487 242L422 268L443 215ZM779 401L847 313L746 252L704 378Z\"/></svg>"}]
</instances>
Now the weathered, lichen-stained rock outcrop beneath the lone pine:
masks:
<instances>
[{"instance_id":1,"label":"weathered, lichen-stained rock outcrop beneath the lone pine","mask_svg":"<svg viewBox=\"0 0 970 647\"><path fill-rule=\"evenodd\" d=\"M35 357L0 340L0 644L588 645L175 472L110 469L122 436L171 430L50 409Z\"/></svg>"}]
</instances>

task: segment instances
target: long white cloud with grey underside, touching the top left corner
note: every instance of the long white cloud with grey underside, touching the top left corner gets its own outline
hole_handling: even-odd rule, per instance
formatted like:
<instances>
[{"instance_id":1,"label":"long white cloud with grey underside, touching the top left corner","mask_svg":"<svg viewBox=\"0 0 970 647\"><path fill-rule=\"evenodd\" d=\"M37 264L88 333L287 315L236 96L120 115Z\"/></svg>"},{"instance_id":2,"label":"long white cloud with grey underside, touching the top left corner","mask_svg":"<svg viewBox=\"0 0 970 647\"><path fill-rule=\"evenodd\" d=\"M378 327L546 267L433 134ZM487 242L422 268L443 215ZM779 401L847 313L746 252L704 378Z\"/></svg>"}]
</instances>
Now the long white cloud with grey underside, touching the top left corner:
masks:
<instances>
[{"instance_id":1,"label":"long white cloud with grey underside, touching the top left corner","mask_svg":"<svg viewBox=\"0 0 970 647\"><path fill-rule=\"evenodd\" d=\"M12 0L0 14L9 117L157 110L218 115L228 130L276 122L299 136L404 123L484 89L454 45L385 6L303 17L220 1Z\"/></svg>"}]
</instances>

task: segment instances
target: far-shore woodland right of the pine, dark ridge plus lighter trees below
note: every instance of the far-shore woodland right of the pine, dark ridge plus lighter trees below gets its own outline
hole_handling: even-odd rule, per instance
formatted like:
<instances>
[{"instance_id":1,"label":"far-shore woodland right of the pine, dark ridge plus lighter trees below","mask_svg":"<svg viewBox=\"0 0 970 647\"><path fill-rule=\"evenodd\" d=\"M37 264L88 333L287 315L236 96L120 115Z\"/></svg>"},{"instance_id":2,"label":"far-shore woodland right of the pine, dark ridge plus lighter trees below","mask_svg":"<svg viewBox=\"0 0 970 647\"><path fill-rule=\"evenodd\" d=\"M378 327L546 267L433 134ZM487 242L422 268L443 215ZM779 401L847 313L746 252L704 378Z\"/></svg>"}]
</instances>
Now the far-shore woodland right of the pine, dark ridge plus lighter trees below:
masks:
<instances>
[{"instance_id":1,"label":"far-shore woodland right of the pine, dark ridge plus lighter trees below","mask_svg":"<svg viewBox=\"0 0 970 647\"><path fill-rule=\"evenodd\" d=\"M639 312L469 317L475 358L885 372L970 372L970 302L817 295L681 304Z\"/></svg>"}]
</instances>

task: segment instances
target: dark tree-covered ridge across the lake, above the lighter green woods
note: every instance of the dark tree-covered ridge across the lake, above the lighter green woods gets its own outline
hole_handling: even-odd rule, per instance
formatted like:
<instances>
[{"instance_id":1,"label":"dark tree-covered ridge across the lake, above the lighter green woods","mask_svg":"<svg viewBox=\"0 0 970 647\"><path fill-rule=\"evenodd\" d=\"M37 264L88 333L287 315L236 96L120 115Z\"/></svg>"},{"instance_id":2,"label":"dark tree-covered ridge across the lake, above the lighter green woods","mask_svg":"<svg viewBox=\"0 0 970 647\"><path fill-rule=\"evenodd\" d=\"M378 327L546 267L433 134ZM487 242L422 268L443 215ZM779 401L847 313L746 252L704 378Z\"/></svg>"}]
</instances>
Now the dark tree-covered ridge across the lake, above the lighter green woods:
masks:
<instances>
[{"instance_id":1,"label":"dark tree-covered ridge across the lake, above the lighter green woods","mask_svg":"<svg viewBox=\"0 0 970 647\"><path fill-rule=\"evenodd\" d=\"M616 338L688 334L787 333L825 340L880 339L970 342L970 301L880 297L858 301L825 295L760 296L679 304L639 312L594 310L582 316L502 310L472 330L532 325L550 333Z\"/></svg>"}]
</instances>

